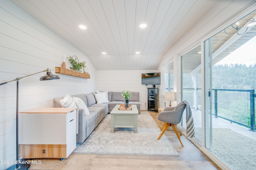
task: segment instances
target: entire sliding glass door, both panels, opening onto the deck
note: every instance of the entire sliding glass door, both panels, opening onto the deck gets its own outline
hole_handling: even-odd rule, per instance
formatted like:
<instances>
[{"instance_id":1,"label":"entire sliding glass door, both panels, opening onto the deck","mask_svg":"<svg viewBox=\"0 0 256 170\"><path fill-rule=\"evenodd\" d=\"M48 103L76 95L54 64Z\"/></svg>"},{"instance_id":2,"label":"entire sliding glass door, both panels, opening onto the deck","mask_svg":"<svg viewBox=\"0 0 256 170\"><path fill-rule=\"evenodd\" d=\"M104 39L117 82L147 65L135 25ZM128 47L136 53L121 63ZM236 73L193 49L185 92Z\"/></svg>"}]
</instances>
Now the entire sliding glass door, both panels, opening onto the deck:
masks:
<instances>
[{"instance_id":1,"label":"entire sliding glass door, both panels, opening onto the deck","mask_svg":"<svg viewBox=\"0 0 256 170\"><path fill-rule=\"evenodd\" d=\"M256 27L246 25L252 18L256 11L180 57L181 101L192 109L192 141L224 169L256 169ZM186 132L186 114L181 126Z\"/></svg>"}]
</instances>

